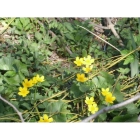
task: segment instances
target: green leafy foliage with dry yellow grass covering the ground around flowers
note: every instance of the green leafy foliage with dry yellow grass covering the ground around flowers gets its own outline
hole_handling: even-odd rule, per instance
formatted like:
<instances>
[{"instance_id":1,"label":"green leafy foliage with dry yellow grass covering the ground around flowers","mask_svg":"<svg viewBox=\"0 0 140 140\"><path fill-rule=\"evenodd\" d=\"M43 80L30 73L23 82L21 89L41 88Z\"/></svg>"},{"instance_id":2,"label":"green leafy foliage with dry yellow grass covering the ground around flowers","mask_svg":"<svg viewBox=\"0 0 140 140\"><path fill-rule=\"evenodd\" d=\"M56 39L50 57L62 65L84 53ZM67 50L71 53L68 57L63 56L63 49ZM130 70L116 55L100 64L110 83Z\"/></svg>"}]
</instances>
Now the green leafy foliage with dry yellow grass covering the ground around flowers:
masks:
<instances>
[{"instance_id":1,"label":"green leafy foliage with dry yellow grass covering the ground around flowers","mask_svg":"<svg viewBox=\"0 0 140 140\"><path fill-rule=\"evenodd\" d=\"M1 18L1 26L10 21L11 18ZM124 47L110 32L101 34L120 52L79 27L93 32L91 21L15 18L0 35L8 36L0 41L0 94L23 113L26 122L38 122L43 114L52 117L54 122L77 122L91 115L85 104L86 96L94 97L99 110L111 105L105 102L102 88L109 88L116 98L114 104L138 92L140 19L118 19L115 29ZM76 74L83 71L73 61L77 56L87 55L95 59L93 69L85 74L89 78L86 82L78 82ZM26 97L19 96L23 80L32 79L37 74L44 76L45 81L29 88L30 93ZM140 112L139 107L137 103L131 103L100 114L94 121L134 122ZM0 121L20 122L15 111L2 100Z\"/></svg>"}]
</instances>

